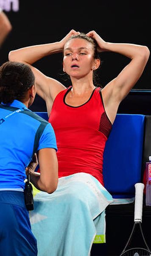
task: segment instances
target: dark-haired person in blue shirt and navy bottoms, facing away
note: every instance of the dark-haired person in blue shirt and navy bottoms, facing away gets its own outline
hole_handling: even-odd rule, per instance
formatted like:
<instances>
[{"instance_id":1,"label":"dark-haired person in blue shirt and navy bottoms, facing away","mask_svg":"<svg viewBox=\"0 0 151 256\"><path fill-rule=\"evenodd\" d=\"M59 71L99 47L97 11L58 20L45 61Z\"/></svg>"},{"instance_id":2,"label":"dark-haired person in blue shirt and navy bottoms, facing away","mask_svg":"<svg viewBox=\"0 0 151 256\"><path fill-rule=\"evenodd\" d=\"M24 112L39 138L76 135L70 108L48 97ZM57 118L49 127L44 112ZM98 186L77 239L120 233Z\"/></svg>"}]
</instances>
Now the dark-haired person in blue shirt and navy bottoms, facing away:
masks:
<instances>
[{"instance_id":1,"label":"dark-haired person in blue shirt and navy bottoms, facing away","mask_svg":"<svg viewBox=\"0 0 151 256\"><path fill-rule=\"evenodd\" d=\"M23 63L0 67L0 255L36 256L36 239L25 206L26 172L38 157L41 173L30 180L44 192L58 185L56 137L50 123L30 111L36 95L35 77Z\"/></svg>"}]
</instances>

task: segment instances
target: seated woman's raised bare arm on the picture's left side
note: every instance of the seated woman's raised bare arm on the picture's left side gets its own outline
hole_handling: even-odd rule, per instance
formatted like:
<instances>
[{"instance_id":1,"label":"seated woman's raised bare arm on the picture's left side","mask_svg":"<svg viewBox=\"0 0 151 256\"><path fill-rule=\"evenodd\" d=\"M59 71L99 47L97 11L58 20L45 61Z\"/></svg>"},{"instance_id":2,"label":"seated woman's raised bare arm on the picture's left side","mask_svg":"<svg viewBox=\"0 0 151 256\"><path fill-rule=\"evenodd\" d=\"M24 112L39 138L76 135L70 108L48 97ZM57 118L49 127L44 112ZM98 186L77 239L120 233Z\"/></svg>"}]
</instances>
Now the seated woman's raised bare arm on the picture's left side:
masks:
<instances>
[{"instance_id":1,"label":"seated woman's raised bare arm on the picture's left side","mask_svg":"<svg viewBox=\"0 0 151 256\"><path fill-rule=\"evenodd\" d=\"M9 52L9 61L23 62L28 64L33 70L36 79L37 94L45 100L48 109L48 115L56 95L66 87L64 87L64 85L56 79L45 76L42 72L33 67L32 64L34 64L39 59L44 58L45 56L62 52L67 39L76 33L77 32L75 30L71 30L59 42L23 47Z\"/></svg>"}]
</instances>

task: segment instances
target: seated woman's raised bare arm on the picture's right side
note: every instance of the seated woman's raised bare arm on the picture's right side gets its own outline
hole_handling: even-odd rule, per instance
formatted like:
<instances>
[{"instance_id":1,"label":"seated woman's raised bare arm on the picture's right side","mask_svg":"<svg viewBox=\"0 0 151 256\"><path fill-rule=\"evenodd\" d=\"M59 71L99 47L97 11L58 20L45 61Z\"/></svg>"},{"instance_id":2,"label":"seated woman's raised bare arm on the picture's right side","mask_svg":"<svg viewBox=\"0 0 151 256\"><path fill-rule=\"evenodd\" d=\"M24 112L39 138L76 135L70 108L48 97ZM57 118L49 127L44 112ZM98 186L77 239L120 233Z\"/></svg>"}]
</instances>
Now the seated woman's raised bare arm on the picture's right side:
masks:
<instances>
[{"instance_id":1,"label":"seated woman's raised bare arm on the picture's right side","mask_svg":"<svg viewBox=\"0 0 151 256\"><path fill-rule=\"evenodd\" d=\"M95 31L87 35L97 41L100 52L117 52L130 59L129 64L102 90L106 112L113 122L120 102L142 75L150 52L148 47L143 45L105 42Z\"/></svg>"}]
</instances>

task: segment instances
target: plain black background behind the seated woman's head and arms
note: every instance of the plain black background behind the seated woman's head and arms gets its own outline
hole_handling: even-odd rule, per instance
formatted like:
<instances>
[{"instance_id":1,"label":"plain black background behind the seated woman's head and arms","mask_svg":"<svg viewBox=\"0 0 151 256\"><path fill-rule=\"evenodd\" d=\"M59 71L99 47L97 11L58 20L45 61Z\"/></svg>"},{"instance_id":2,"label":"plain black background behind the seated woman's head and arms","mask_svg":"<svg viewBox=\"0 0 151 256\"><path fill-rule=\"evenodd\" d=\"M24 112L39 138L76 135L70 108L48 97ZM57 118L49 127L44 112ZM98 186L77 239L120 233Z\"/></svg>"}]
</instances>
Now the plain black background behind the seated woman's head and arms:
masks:
<instances>
[{"instance_id":1,"label":"plain black background behind the seated woman's head and arms","mask_svg":"<svg viewBox=\"0 0 151 256\"><path fill-rule=\"evenodd\" d=\"M59 41L71 29L86 33L95 30L105 41L142 44L151 50L150 0L140 3L134 0L14 0L19 2L18 12L13 11L13 0L8 1L8 5L9 2L12 2L11 10L6 11L5 0L0 1L13 26L0 50L0 64L8 60L8 52L12 49ZM129 59L114 52L101 53L101 59L100 84L104 87ZM62 76L61 53L45 57L35 66L46 75L59 79L65 86L69 85L70 82L64 81ZM151 57L133 89L150 90L150 81ZM45 102L36 96L32 108L34 111L45 111Z\"/></svg>"}]
</instances>

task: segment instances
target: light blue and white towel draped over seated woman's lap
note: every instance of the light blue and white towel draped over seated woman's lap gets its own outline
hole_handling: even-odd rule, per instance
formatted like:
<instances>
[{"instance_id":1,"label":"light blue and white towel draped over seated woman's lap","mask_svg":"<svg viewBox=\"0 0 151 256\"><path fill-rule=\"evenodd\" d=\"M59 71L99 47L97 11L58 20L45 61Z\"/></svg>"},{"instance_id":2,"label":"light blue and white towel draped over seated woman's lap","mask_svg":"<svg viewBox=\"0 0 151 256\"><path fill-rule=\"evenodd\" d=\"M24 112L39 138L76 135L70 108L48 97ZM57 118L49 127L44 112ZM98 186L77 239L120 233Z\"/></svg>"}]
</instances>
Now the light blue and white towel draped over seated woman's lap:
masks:
<instances>
[{"instance_id":1,"label":"light blue and white towel draped over seated woman's lap","mask_svg":"<svg viewBox=\"0 0 151 256\"><path fill-rule=\"evenodd\" d=\"M36 194L30 220L38 256L88 256L93 241L105 242L105 209L112 201L87 173L59 178L52 194Z\"/></svg>"}]
</instances>

